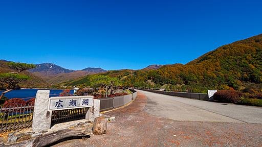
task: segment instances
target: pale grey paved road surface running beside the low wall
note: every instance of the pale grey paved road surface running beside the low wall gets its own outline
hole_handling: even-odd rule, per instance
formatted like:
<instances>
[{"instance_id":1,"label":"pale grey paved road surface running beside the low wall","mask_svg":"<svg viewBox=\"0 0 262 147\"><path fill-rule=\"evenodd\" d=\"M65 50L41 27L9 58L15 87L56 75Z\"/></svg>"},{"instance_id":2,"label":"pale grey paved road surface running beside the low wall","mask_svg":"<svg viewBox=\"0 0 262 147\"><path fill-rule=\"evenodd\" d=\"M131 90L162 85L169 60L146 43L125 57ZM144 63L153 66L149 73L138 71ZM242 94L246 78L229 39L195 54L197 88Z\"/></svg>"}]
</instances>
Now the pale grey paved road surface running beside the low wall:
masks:
<instances>
[{"instance_id":1,"label":"pale grey paved road surface running beside the low wall","mask_svg":"<svg viewBox=\"0 0 262 147\"><path fill-rule=\"evenodd\" d=\"M144 111L182 121L243 122L262 124L262 108L192 100L138 90L147 96Z\"/></svg>"}]
</instances>

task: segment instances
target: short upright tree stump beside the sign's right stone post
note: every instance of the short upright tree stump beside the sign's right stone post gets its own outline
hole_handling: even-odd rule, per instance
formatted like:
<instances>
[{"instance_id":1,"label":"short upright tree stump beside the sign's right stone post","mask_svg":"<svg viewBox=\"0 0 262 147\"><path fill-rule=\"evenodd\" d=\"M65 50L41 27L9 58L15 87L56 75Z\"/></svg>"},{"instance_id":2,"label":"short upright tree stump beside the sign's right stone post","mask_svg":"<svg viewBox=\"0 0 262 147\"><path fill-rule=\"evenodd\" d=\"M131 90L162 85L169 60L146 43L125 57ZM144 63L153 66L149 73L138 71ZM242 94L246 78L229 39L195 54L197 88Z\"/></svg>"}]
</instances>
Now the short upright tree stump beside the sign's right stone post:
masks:
<instances>
[{"instance_id":1,"label":"short upright tree stump beside the sign's right stone post","mask_svg":"<svg viewBox=\"0 0 262 147\"><path fill-rule=\"evenodd\" d=\"M94 119L93 134L102 135L107 131L107 120L104 117L96 117Z\"/></svg>"}]
</instances>

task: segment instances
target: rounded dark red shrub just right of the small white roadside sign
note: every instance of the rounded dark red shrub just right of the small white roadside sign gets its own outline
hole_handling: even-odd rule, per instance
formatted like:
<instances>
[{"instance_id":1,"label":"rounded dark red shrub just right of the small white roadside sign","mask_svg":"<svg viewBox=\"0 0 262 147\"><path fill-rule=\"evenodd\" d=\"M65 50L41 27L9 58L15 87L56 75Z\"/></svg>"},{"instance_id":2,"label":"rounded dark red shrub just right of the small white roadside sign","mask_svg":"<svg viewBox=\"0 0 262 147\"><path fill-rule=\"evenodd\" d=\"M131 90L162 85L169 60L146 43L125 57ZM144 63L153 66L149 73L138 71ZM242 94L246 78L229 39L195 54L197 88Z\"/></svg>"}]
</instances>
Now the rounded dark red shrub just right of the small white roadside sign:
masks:
<instances>
[{"instance_id":1,"label":"rounded dark red shrub just right of the small white roadside sign","mask_svg":"<svg viewBox=\"0 0 262 147\"><path fill-rule=\"evenodd\" d=\"M215 92L213 98L214 101L224 102L224 103L236 103L240 100L242 93L233 90L221 90Z\"/></svg>"}]
</instances>

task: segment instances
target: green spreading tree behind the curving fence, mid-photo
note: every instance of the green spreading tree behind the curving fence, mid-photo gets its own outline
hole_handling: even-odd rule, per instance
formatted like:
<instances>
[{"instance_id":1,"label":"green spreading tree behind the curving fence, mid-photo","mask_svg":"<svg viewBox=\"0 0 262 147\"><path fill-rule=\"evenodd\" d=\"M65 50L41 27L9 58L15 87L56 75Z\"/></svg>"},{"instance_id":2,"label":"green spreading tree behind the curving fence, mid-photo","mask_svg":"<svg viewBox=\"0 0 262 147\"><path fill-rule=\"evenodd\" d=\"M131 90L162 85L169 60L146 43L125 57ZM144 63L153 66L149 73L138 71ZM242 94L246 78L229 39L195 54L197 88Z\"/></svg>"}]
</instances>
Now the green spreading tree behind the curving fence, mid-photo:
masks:
<instances>
[{"instance_id":1,"label":"green spreading tree behind the curving fence, mid-photo","mask_svg":"<svg viewBox=\"0 0 262 147\"><path fill-rule=\"evenodd\" d=\"M107 97L108 91L113 93L118 87L122 86L122 83L114 77L94 75L90 78L90 84L93 88L105 88L105 96Z\"/></svg>"}]
</instances>

